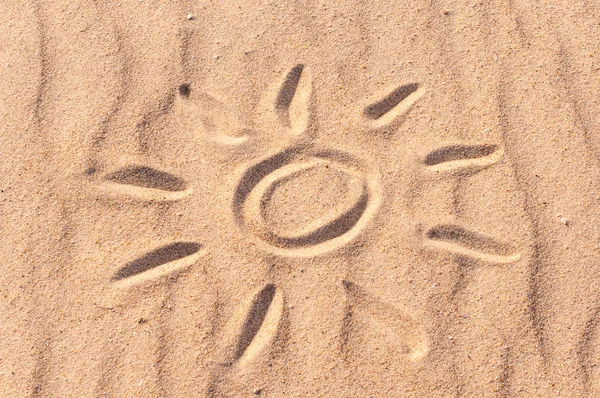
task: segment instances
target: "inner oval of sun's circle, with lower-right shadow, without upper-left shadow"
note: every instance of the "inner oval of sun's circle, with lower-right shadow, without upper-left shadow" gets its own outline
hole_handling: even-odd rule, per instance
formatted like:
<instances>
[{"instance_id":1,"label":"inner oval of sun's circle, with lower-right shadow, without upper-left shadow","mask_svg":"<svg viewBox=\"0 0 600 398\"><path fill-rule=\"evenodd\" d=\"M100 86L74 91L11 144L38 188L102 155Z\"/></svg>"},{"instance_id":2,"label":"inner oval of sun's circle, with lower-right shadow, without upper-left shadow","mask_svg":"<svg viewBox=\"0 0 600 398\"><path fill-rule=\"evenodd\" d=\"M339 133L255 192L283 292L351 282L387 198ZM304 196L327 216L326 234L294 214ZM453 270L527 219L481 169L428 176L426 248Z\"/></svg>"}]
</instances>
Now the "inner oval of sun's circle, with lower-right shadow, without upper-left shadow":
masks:
<instances>
[{"instance_id":1,"label":"inner oval of sun's circle, with lower-right shadow, without upper-left shadow","mask_svg":"<svg viewBox=\"0 0 600 398\"><path fill-rule=\"evenodd\" d=\"M360 176L325 159L281 167L247 198L255 232L280 247L308 246L349 231L362 216L368 191Z\"/></svg>"}]
</instances>

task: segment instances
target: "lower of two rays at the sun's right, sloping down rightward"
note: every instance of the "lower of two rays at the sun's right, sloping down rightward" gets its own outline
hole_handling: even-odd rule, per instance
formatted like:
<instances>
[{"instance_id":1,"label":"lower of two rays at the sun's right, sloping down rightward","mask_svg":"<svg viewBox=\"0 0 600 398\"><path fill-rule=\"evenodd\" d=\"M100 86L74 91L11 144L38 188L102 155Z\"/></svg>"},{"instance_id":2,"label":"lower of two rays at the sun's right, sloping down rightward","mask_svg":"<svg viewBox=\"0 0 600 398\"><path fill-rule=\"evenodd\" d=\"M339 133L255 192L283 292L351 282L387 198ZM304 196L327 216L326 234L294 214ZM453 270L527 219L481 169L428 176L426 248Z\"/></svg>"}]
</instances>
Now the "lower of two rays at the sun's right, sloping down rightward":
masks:
<instances>
[{"instance_id":1,"label":"lower of two rays at the sun's right, sloping down rightward","mask_svg":"<svg viewBox=\"0 0 600 398\"><path fill-rule=\"evenodd\" d=\"M509 264L521 258L511 245L453 224L438 225L427 231L426 245L489 264Z\"/></svg>"}]
</instances>

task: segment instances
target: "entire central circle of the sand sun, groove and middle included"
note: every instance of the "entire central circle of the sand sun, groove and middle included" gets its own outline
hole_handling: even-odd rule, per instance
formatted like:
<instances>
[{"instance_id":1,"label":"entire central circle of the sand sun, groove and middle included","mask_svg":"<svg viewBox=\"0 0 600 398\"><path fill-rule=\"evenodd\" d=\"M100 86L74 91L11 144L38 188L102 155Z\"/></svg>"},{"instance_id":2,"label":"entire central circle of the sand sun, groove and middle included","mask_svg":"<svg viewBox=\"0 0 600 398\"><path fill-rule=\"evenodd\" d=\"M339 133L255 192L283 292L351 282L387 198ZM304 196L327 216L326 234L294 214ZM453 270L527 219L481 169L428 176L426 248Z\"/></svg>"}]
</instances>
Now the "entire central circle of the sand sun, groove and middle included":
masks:
<instances>
[{"instance_id":1,"label":"entire central circle of the sand sun, groove and middle included","mask_svg":"<svg viewBox=\"0 0 600 398\"><path fill-rule=\"evenodd\" d=\"M244 173L234 212L266 247L312 256L357 236L378 207L377 185L371 167L346 152L290 149Z\"/></svg>"}]
</instances>

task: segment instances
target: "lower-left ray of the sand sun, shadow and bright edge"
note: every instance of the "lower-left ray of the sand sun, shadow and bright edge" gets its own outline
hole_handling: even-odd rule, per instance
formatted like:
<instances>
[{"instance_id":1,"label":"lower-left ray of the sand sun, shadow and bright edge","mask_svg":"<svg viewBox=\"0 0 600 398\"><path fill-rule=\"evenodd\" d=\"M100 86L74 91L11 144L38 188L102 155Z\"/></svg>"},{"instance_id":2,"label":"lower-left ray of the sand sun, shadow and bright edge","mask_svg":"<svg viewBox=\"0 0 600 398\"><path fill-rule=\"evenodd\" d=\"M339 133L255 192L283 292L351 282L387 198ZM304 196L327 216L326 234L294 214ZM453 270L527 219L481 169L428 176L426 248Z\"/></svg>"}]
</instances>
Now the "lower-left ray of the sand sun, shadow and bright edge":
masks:
<instances>
[{"instance_id":1,"label":"lower-left ray of the sand sun, shadow and bright edge","mask_svg":"<svg viewBox=\"0 0 600 398\"><path fill-rule=\"evenodd\" d=\"M194 264L203 254L201 249L194 242L171 243L126 264L111 279L119 285L155 280Z\"/></svg>"}]
</instances>

